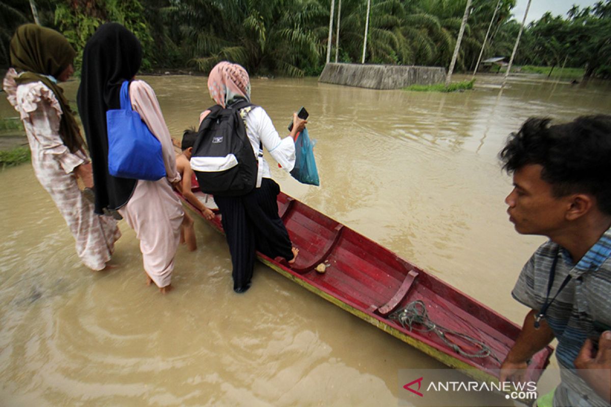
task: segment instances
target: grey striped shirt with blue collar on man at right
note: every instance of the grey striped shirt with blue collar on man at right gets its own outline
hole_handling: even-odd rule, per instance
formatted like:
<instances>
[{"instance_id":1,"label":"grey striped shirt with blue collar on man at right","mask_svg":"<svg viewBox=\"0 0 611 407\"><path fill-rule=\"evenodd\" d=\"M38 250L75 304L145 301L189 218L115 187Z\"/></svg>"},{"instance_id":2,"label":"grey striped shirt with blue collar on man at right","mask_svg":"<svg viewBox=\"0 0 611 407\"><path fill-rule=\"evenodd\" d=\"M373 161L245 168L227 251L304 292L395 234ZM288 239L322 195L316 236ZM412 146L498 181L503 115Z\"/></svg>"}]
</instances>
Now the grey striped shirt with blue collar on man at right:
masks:
<instances>
[{"instance_id":1,"label":"grey striped shirt with blue collar on man at right","mask_svg":"<svg viewBox=\"0 0 611 407\"><path fill-rule=\"evenodd\" d=\"M547 298L556 256L554 284ZM558 293L567 275L571 279ZM598 337L602 333L596 331L594 322L611 325L611 229L577 264L556 243L544 243L522 268L511 295L539 311L546 298L549 302L557 293L545 317L558 339L556 358L562 383L554 393L554 406L610 406L577 375L573 361L587 337Z\"/></svg>"}]
</instances>

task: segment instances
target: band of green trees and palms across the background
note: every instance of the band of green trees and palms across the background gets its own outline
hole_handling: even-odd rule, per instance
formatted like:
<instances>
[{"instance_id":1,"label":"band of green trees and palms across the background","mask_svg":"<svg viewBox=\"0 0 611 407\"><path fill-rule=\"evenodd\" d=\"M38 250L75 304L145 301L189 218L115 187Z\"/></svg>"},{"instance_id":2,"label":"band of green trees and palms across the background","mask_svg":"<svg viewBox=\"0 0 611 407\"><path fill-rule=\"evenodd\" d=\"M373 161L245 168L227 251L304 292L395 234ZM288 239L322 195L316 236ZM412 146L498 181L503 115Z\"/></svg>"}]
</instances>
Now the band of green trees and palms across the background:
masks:
<instances>
[{"instance_id":1,"label":"band of green trees and palms across the background","mask_svg":"<svg viewBox=\"0 0 611 407\"><path fill-rule=\"evenodd\" d=\"M447 67L467 0L371 1L365 62ZM221 60L257 75L316 75L324 67L331 0L37 0L42 24L62 31L78 51L100 24L118 21L144 48L142 70L154 67L207 72ZM483 58L509 57L520 24L516 0L473 0L456 62L471 71ZM495 13L496 11L496 13ZM0 61L18 24L31 21L29 4L0 0ZM340 14L339 60L360 62L367 2L335 1L331 60ZM49 21L48 16L54 15ZM494 21L492 16L494 15ZM566 16L543 15L525 27L516 65L580 67L585 76L611 77L611 0L574 6ZM562 72L568 72L567 68Z\"/></svg>"}]
</instances>

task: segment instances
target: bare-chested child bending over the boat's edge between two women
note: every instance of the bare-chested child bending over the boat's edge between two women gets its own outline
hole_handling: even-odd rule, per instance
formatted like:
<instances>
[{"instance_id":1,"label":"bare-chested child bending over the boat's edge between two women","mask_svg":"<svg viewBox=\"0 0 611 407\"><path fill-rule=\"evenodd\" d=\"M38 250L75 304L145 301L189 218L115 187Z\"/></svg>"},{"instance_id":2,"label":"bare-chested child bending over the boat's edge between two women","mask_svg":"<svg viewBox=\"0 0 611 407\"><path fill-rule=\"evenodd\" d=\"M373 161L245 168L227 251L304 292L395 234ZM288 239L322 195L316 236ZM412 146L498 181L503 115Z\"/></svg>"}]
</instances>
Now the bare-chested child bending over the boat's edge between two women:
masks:
<instances>
[{"instance_id":1,"label":"bare-chested child bending over the boat's edge between two women","mask_svg":"<svg viewBox=\"0 0 611 407\"><path fill-rule=\"evenodd\" d=\"M197 138L197 132L192 130L185 130L183 134L183 141L181 142L180 148L182 150L181 154L177 154L176 156L176 169L180 173L182 177L181 181L175 185L178 192L183 195L189 203L195 206L200 212L202 212L203 217L211 220L214 218L214 212L212 212L208 207L206 207L197 196L191 191L191 179L193 176L193 170L191 170L191 164L189 164L189 160L191 159L191 151L193 150L193 145L195 144L195 140ZM197 248L197 242L195 237L195 230L193 228L193 220L192 218L185 212L185 220L183 221L183 227L181 228L181 243L187 243L187 247L189 250L193 251Z\"/></svg>"}]
</instances>

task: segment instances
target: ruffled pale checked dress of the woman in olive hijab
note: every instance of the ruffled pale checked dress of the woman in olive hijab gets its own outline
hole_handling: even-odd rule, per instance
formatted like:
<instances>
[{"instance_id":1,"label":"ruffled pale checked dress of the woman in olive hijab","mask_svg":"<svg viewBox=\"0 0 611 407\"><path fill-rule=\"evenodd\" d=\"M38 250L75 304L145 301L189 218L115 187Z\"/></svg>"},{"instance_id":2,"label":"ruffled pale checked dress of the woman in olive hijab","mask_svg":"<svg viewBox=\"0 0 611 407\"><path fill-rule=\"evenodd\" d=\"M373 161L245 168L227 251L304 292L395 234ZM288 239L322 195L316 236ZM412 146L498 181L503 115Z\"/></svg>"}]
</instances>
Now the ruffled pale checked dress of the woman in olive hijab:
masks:
<instances>
[{"instance_id":1,"label":"ruffled pale checked dress of the woman in olive hijab","mask_svg":"<svg viewBox=\"0 0 611 407\"><path fill-rule=\"evenodd\" d=\"M62 142L59 135L62 109L54 93L42 82L17 86L16 76L11 68L3 85L9 103L23 121L34 174L68 224L83 264L101 270L111 259L121 232L114 219L93 212L93 204L78 187L73 170L89 162L89 157L84 151L70 153Z\"/></svg>"}]
</instances>

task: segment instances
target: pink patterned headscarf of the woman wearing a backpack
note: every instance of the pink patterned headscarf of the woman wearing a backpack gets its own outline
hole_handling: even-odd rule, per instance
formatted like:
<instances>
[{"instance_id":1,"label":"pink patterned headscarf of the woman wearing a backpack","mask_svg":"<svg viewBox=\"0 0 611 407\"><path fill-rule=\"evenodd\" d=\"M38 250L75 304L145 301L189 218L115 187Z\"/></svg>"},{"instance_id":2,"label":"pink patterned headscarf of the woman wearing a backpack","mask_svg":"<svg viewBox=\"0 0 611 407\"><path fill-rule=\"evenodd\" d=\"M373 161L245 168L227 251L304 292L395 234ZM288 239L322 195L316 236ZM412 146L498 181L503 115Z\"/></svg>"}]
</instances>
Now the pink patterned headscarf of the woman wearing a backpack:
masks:
<instances>
[{"instance_id":1,"label":"pink patterned headscarf of the woman wearing a backpack","mask_svg":"<svg viewBox=\"0 0 611 407\"><path fill-rule=\"evenodd\" d=\"M237 63L217 63L208 76L208 90L221 107L227 107L240 98L251 101L251 80L246 70Z\"/></svg>"}]
</instances>

